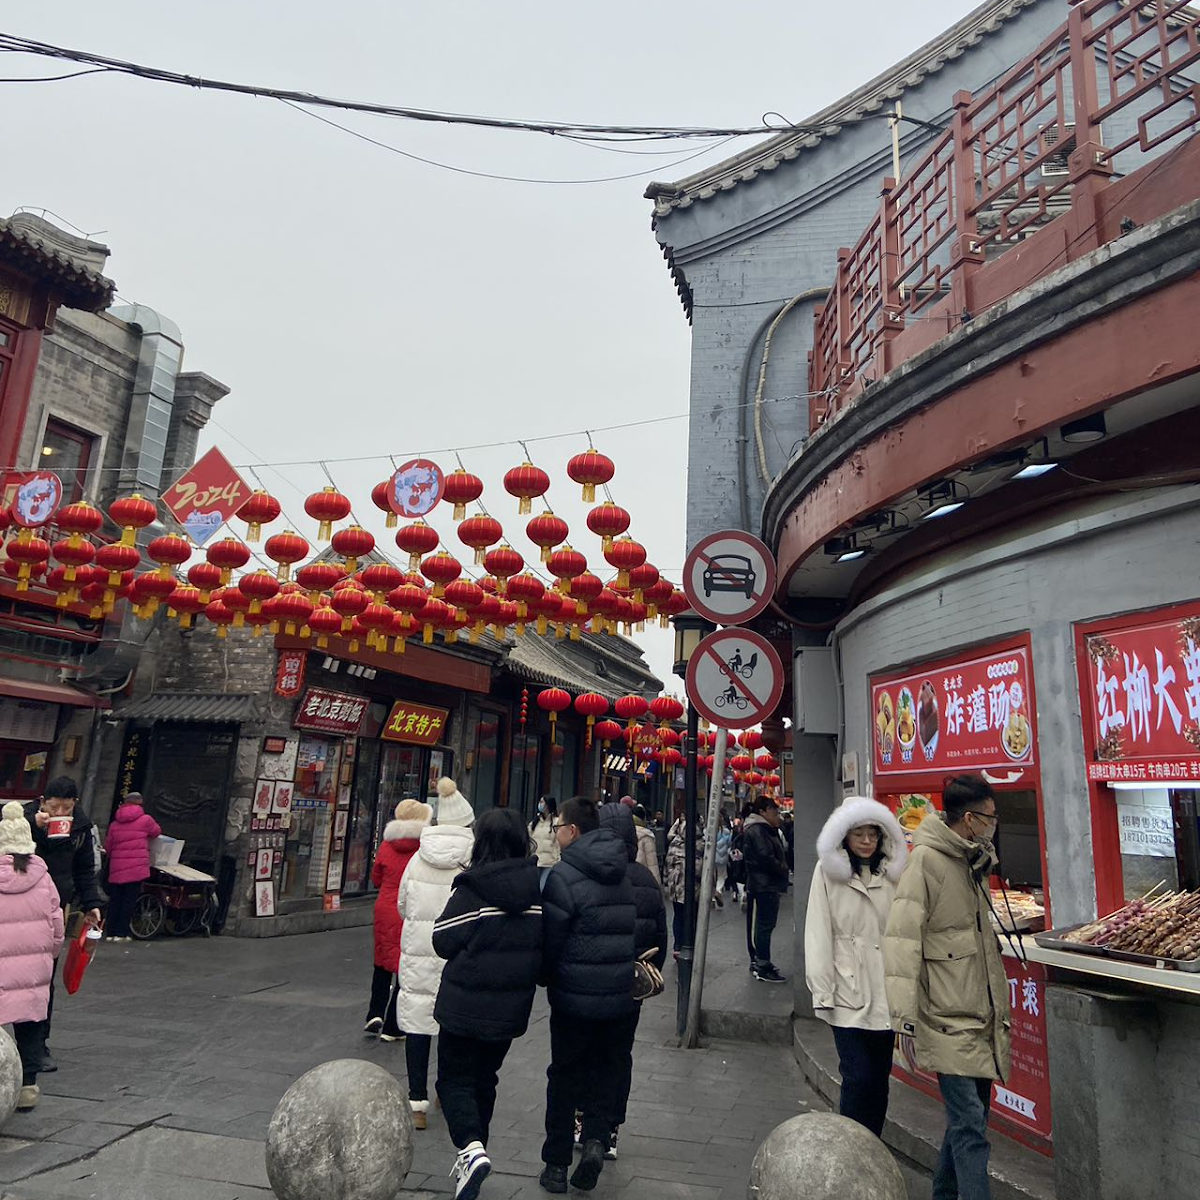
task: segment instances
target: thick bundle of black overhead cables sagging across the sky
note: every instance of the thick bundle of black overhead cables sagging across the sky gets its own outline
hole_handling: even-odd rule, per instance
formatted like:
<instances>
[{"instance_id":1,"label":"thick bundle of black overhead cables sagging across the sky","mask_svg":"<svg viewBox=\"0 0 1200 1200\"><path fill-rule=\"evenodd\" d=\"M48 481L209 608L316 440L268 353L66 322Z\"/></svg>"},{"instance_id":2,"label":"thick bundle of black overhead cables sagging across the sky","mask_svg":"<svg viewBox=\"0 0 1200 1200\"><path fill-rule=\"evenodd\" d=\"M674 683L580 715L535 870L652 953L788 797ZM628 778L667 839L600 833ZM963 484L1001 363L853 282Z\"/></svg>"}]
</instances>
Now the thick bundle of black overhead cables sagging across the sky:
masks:
<instances>
[{"instance_id":1,"label":"thick bundle of black overhead cables sagging across the sky","mask_svg":"<svg viewBox=\"0 0 1200 1200\"><path fill-rule=\"evenodd\" d=\"M20 37L16 34L0 34L0 50L16 54L36 54L42 58L62 59L68 62L80 62L97 68L97 73L113 72L134 76L139 79L151 79L157 83L174 84L182 88L196 88L205 91L228 91L242 96L262 96L269 100L286 100L295 104L307 104L319 108L340 108L355 113L371 113L377 116L394 116L409 121L426 121L442 125L466 125L481 128L510 130L526 133L546 133L571 138L595 140L607 139L667 139L667 138L727 138L742 136L763 136L773 133L820 133L826 126L770 125L763 120L758 125L744 127L696 127L668 125L605 125L587 121L551 121L516 120L502 116L485 116L469 113L448 113L437 109L410 108L401 104L377 104L360 100L338 100L310 91L294 91L282 88L268 88L262 84L232 83L226 79L210 79L204 76L185 74L168 71L163 67L128 62L90 50L77 50L49 42ZM67 77L64 77L67 78ZM19 80L14 80L19 82ZM42 82L42 80L38 80ZM772 115L772 114L768 114Z\"/></svg>"}]
</instances>

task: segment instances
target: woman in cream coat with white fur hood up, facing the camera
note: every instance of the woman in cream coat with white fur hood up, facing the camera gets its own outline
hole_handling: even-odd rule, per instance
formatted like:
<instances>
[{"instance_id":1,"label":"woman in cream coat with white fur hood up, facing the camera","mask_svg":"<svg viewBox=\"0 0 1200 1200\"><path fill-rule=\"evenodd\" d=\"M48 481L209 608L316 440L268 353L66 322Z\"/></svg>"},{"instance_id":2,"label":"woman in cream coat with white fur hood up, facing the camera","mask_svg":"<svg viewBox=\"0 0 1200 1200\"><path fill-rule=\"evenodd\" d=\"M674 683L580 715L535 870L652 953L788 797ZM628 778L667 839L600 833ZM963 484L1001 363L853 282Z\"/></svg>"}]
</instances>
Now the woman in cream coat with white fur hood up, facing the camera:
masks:
<instances>
[{"instance_id":1,"label":"woman in cream coat with white fur hood up, facing the camera","mask_svg":"<svg viewBox=\"0 0 1200 1200\"><path fill-rule=\"evenodd\" d=\"M900 822L848 796L817 838L804 924L804 974L812 1007L833 1026L841 1069L839 1111L883 1133L892 1074L892 1013L883 984L883 931L908 858Z\"/></svg>"}]
</instances>

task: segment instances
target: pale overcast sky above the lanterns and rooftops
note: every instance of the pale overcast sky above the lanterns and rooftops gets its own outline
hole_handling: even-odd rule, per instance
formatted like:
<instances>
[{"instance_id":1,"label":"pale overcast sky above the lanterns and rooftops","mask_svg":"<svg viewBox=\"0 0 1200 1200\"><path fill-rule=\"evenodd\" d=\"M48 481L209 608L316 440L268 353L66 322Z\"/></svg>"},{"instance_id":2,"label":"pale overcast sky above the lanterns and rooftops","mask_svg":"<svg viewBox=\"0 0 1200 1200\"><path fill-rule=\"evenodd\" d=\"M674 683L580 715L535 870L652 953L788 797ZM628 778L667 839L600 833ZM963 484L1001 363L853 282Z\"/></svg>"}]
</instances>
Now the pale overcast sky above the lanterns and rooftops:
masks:
<instances>
[{"instance_id":1,"label":"pale overcast sky above the lanterns and rooftops","mask_svg":"<svg viewBox=\"0 0 1200 1200\"><path fill-rule=\"evenodd\" d=\"M192 74L414 108L638 125L802 120L973 7L858 0L686 6L484 0L414 5L58 0L10 8L5 30ZM71 70L6 55L0 74ZM185 370L232 389L211 440L235 463L419 452L682 416L689 329L649 229L646 182L750 144L637 156L544 136L325 113L404 151L539 179L414 162L283 104L116 76L6 83L0 211L48 209L113 251L122 298L175 320ZM886 138L884 126L880 137ZM640 148L641 149L641 148ZM652 149L659 149L658 145ZM55 218L52 216L52 218ZM686 424L598 432L631 533L678 582ZM576 548L599 542L563 467L575 434L530 443ZM449 470L452 454L437 455ZM528 557L500 487L516 445L463 451L485 502ZM371 487L390 468L330 462L378 536ZM260 472L306 524L320 468ZM376 517L379 517L377 521ZM452 552L448 509L433 523ZM388 547L395 550L390 545ZM667 677L666 635L648 636Z\"/></svg>"}]
</instances>

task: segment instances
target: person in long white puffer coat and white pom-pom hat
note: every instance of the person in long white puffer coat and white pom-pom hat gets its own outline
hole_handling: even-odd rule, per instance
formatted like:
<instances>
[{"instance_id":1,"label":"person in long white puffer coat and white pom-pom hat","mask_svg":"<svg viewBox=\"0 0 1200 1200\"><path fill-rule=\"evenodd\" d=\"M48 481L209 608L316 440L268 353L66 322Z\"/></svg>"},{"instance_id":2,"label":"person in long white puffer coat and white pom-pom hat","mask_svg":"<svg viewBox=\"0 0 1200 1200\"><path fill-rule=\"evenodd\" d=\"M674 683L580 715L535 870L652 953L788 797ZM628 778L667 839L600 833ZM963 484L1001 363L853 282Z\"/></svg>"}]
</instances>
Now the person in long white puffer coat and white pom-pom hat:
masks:
<instances>
[{"instance_id":1,"label":"person in long white puffer coat and white pom-pom hat","mask_svg":"<svg viewBox=\"0 0 1200 1200\"><path fill-rule=\"evenodd\" d=\"M426 1127L430 1111L430 1050L438 1032L433 1006L445 960L433 950L433 924L450 899L450 887L470 863L475 814L452 779L438 780L437 824L421 830L421 844L400 881L400 1000L396 1024L404 1031L408 1102L413 1126Z\"/></svg>"}]
</instances>

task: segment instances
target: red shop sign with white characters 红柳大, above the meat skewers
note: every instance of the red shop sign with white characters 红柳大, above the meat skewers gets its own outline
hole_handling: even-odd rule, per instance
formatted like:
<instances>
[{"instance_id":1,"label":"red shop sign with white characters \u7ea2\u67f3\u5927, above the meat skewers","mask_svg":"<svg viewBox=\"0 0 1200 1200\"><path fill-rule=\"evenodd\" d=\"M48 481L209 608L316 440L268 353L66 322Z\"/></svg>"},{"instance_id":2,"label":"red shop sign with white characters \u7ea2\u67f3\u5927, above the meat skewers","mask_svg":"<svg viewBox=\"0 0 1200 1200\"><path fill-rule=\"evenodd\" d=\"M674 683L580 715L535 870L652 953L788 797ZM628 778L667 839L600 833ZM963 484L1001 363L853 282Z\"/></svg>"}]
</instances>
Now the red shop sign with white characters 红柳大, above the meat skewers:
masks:
<instances>
[{"instance_id":1,"label":"red shop sign with white characters \u7ea2\u67f3\u5927, above the meat skewers","mask_svg":"<svg viewBox=\"0 0 1200 1200\"><path fill-rule=\"evenodd\" d=\"M1200 605L1087 634L1093 780L1200 781Z\"/></svg>"}]
</instances>

